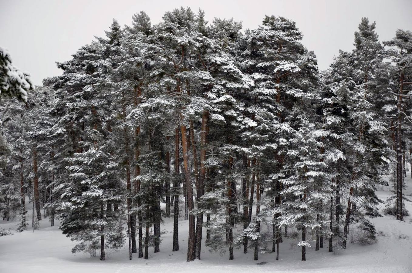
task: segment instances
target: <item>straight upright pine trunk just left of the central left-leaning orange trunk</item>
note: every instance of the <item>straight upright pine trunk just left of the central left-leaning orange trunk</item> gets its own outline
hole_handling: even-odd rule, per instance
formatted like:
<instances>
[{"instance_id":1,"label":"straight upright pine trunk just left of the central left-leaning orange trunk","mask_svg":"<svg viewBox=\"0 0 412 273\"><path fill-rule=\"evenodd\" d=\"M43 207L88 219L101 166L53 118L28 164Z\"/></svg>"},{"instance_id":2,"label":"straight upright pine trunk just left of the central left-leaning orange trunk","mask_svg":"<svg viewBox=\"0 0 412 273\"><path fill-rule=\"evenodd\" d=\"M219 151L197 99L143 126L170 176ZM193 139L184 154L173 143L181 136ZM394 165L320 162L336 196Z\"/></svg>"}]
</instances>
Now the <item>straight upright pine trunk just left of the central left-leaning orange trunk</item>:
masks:
<instances>
[{"instance_id":1,"label":"straight upright pine trunk just left of the central left-leaning orange trunk","mask_svg":"<svg viewBox=\"0 0 412 273\"><path fill-rule=\"evenodd\" d=\"M179 182L176 182L179 176L179 128L175 131L175 174L176 179L173 182L174 191L174 212L173 212L173 251L179 250Z\"/></svg>"}]
</instances>

